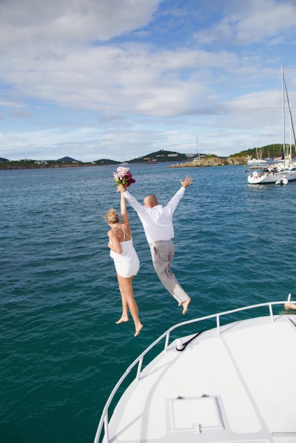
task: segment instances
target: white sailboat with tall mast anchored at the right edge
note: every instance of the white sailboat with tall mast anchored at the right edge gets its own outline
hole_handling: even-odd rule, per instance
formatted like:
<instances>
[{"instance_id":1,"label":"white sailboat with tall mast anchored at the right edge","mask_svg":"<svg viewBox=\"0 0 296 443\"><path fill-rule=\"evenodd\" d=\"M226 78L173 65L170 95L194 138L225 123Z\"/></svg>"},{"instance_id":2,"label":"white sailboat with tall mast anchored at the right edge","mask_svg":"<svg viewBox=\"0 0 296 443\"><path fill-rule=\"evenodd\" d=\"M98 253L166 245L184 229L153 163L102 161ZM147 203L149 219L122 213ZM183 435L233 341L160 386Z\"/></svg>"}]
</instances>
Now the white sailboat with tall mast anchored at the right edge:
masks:
<instances>
[{"instance_id":1,"label":"white sailboat with tall mast anchored at the right edge","mask_svg":"<svg viewBox=\"0 0 296 443\"><path fill-rule=\"evenodd\" d=\"M290 143L289 153L286 152L285 101L288 104L290 127L291 131L293 132L294 143L295 132L293 127L293 120L284 76L283 64L281 65L281 101L283 115L283 159L281 161L276 161L272 165L257 165L253 166L252 168L247 168L247 181L252 185L262 185L265 183L286 184L288 183L288 181L296 180L296 163L292 161L292 143Z\"/></svg>"}]
</instances>

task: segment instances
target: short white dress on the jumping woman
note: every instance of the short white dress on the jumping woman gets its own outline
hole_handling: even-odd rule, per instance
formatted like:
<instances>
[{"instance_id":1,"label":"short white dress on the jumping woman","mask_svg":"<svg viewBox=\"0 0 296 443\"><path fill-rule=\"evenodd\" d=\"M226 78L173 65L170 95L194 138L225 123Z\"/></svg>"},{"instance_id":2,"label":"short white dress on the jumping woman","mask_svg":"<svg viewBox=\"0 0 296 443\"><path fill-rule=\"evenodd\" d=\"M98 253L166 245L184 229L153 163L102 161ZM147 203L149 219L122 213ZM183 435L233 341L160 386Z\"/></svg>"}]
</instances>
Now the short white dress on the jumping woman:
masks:
<instances>
[{"instance_id":1,"label":"short white dress on the jumping woman","mask_svg":"<svg viewBox=\"0 0 296 443\"><path fill-rule=\"evenodd\" d=\"M119 227L121 228L121 226ZM111 250L110 257L114 260L116 273L121 275L121 277L130 278L133 275L137 275L140 268L140 260L132 245L132 237L125 233L123 228L121 230L123 230L123 242L120 242L122 252L118 254ZM125 234L130 237L130 240L125 241ZM110 242L110 244L112 243Z\"/></svg>"}]
</instances>

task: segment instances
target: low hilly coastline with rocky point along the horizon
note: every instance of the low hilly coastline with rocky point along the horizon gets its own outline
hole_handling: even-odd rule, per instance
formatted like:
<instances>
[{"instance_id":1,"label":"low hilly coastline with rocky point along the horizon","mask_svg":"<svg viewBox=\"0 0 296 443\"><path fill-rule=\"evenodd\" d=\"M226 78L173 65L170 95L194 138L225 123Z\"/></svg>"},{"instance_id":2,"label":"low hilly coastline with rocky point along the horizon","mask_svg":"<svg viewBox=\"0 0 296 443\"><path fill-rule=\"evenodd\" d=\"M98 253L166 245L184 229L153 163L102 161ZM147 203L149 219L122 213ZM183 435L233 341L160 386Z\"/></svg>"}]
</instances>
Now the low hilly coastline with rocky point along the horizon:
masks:
<instances>
[{"instance_id":1,"label":"low hilly coastline with rocky point along the horizon","mask_svg":"<svg viewBox=\"0 0 296 443\"><path fill-rule=\"evenodd\" d=\"M147 163L153 165L155 163L172 163L168 168L186 168L199 166L221 166L221 165L243 165L247 162L247 156L254 159L266 159L279 157L282 154L282 145L267 145L261 148L252 148L232 154L229 157L218 157L214 154L181 154L180 152L159 150L151 152L136 159L128 160L126 163ZM181 163L180 163L181 162ZM126 164L125 163L125 164ZM0 170L12 169L33 169L33 168L69 168L79 166L104 166L104 165L120 165L119 161L110 159L99 159L92 162L82 162L72 159L69 156L62 157L58 160L32 160L22 159L19 161L10 161L0 158Z\"/></svg>"}]
</instances>

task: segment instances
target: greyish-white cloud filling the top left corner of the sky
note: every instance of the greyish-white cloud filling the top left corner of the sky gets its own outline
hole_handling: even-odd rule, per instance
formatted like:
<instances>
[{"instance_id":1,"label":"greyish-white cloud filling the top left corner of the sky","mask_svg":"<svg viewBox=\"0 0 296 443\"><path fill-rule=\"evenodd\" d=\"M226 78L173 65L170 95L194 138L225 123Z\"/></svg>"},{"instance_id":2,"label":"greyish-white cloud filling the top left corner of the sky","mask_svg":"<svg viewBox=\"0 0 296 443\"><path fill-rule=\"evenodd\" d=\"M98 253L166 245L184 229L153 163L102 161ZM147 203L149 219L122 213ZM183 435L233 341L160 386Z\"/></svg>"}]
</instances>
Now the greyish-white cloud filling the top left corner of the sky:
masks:
<instances>
[{"instance_id":1,"label":"greyish-white cloud filling the top left corner of the sky","mask_svg":"<svg viewBox=\"0 0 296 443\"><path fill-rule=\"evenodd\" d=\"M4 44L105 41L148 23L162 0L11 0L1 4ZM17 29L17 33L15 33Z\"/></svg>"}]
</instances>

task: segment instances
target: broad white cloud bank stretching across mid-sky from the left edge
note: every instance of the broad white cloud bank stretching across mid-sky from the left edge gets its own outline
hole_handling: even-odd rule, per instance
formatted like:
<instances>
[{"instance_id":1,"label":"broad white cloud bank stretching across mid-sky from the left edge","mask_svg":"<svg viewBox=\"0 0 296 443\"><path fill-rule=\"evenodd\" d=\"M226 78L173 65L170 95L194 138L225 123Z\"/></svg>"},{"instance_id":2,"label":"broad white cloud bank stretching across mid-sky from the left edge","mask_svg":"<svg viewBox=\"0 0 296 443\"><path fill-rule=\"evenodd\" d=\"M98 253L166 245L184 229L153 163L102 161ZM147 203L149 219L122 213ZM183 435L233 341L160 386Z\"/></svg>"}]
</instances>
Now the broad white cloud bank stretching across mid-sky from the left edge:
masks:
<instances>
[{"instance_id":1,"label":"broad white cloud bank stretching across mid-sky from the left edge","mask_svg":"<svg viewBox=\"0 0 296 443\"><path fill-rule=\"evenodd\" d=\"M151 116L188 113L195 100L209 93L202 77L206 69L234 66L236 56L225 51L159 51L129 45L77 47L64 57L27 62L22 55L4 62L3 79L17 85L24 97L50 100L66 107L96 111L139 112ZM202 71L198 74L198 69ZM183 70L190 70L183 80Z\"/></svg>"}]
</instances>

